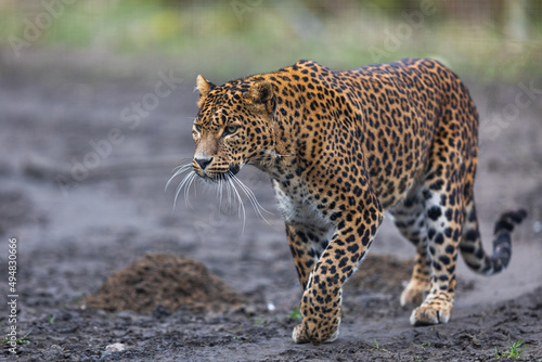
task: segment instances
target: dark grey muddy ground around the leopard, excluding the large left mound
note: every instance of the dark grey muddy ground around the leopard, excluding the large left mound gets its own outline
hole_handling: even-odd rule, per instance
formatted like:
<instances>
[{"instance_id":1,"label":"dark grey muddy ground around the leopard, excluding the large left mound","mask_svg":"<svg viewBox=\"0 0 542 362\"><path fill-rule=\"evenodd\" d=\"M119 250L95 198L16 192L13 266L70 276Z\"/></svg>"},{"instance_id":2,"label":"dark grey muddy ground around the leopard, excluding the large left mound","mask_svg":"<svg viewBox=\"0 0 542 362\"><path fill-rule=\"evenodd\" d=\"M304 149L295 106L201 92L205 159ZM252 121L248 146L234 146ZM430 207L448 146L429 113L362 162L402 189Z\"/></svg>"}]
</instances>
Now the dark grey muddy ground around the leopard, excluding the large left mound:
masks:
<instances>
[{"instance_id":1,"label":"dark grey muddy ground around the leopard, excluding the large left mound","mask_svg":"<svg viewBox=\"0 0 542 362\"><path fill-rule=\"evenodd\" d=\"M167 76L178 80L160 80ZM11 294L4 271L16 238L22 341L16 354L3 342L1 359L493 361L495 348L503 353L518 340L527 346L521 360L542 358L542 101L531 92L520 95L529 104L515 103L526 87L542 88L542 78L525 87L466 79L485 122L476 197L486 248L502 210L529 211L508 270L488 279L460 261L450 323L411 327L399 295L414 249L387 221L346 287L338 340L313 347L291 339L300 287L264 174L245 168L241 178L271 212L267 221L245 198L244 222L204 184L172 211L177 182L164 188L193 151L195 76L153 59L0 52L0 295ZM496 122L499 114L505 121ZM240 299L177 311L89 306L112 273L147 254L203 263ZM9 313L1 302L2 334ZM114 344L124 350L107 348Z\"/></svg>"}]
</instances>

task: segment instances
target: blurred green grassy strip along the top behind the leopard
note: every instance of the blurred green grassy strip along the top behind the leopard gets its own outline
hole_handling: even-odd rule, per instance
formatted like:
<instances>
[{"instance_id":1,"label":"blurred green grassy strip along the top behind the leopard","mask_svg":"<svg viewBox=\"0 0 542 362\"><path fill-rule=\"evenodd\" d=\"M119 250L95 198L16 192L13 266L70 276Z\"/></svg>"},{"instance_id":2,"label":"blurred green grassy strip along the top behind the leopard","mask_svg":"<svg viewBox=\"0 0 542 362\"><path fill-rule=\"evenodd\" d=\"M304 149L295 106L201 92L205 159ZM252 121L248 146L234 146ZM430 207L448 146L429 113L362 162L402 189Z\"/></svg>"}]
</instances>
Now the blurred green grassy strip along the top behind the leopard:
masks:
<instances>
[{"instance_id":1,"label":"blurred green grassy strip along the top behind the leopard","mask_svg":"<svg viewBox=\"0 0 542 362\"><path fill-rule=\"evenodd\" d=\"M430 56L462 76L540 76L540 0L0 1L4 51L169 59L225 81L300 59L333 69Z\"/></svg>"}]
</instances>

